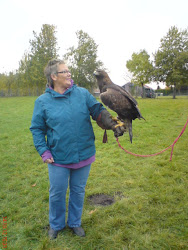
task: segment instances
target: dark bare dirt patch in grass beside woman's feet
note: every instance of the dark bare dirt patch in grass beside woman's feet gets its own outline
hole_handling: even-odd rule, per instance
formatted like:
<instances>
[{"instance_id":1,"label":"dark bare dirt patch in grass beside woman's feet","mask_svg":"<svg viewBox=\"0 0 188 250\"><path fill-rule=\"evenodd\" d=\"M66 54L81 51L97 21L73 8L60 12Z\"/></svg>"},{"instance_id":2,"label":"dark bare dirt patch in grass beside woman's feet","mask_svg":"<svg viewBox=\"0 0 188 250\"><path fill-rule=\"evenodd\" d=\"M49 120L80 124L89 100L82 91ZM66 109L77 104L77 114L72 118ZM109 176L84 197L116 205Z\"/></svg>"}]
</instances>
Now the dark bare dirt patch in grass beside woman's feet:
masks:
<instances>
[{"instance_id":1,"label":"dark bare dirt patch in grass beside woman's feet","mask_svg":"<svg viewBox=\"0 0 188 250\"><path fill-rule=\"evenodd\" d=\"M115 202L115 198L106 194L94 194L88 197L92 205L109 206Z\"/></svg>"}]
</instances>

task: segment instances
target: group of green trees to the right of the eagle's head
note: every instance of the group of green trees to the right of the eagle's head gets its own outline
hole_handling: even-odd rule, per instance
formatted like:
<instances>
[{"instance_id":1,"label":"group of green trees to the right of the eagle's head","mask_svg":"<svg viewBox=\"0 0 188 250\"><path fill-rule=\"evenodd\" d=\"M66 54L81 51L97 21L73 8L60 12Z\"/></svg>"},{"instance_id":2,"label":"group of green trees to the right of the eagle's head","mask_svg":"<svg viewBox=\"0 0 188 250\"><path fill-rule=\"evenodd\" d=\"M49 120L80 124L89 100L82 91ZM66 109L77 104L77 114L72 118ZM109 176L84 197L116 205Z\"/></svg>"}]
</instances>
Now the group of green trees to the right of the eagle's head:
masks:
<instances>
[{"instance_id":1,"label":"group of green trees to the right of the eagle's head","mask_svg":"<svg viewBox=\"0 0 188 250\"><path fill-rule=\"evenodd\" d=\"M161 39L153 60L144 49L133 53L126 67L132 73L133 83L143 87L151 81L165 82L167 86L173 87L175 98L176 89L188 86L188 30L180 31L175 26L171 27Z\"/></svg>"}]
</instances>

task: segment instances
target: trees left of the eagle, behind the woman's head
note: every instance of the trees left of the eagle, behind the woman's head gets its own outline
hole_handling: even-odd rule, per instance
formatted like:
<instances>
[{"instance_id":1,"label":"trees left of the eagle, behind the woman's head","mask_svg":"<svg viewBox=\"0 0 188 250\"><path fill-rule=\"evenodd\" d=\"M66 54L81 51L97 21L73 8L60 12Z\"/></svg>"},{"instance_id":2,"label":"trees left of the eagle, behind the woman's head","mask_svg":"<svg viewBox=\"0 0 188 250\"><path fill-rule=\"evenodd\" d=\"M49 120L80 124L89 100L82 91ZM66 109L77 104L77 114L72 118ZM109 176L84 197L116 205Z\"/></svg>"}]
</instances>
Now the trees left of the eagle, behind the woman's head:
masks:
<instances>
[{"instance_id":1,"label":"trees left of the eagle, behind the woman's head","mask_svg":"<svg viewBox=\"0 0 188 250\"><path fill-rule=\"evenodd\" d=\"M31 96L44 92L46 78L44 68L52 58L58 58L59 48L56 38L56 27L44 24L34 38L29 41L30 49L25 52L15 72L0 74L0 96ZM70 47L63 56L68 61L72 79L79 86L92 91L95 86L93 72L103 67L97 59L97 45L93 38L82 30L76 32L78 46Z\"/></svg>"}]
</instances>

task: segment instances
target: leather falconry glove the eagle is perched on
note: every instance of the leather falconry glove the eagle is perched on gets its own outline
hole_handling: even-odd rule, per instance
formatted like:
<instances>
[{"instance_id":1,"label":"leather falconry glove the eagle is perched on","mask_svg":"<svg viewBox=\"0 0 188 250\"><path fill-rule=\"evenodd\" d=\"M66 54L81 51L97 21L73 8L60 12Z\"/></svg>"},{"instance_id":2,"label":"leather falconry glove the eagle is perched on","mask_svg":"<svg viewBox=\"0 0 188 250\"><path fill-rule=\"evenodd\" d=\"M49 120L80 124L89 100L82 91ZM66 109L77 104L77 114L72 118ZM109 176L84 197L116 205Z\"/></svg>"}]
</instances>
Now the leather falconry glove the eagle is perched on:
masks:
<instances>
[{"instance_id":1,"label":"leather falconry glove the eagle is perched on","mask_svg":"<svg viewBox=\"0 0 188 250\"><path fill-rule=\"evenodd\" d=\"M123 133L125 132L125 127L115 127L117 125L117 122L112 120L110 113L106 109L104 109L100 113L99 117L97 118L97 124L102 129L113 130L115 137L122 136Z\"/></svg>"}]
</instances>

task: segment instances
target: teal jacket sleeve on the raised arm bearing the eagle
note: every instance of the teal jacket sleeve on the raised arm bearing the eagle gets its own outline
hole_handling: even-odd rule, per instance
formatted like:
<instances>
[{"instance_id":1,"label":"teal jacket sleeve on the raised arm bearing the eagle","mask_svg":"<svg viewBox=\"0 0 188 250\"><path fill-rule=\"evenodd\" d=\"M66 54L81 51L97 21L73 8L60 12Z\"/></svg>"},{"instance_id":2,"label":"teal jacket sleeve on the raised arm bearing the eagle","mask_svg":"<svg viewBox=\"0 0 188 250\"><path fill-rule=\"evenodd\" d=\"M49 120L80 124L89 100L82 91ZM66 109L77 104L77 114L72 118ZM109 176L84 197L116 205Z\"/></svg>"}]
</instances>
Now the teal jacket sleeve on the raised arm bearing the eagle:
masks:
<instances>
[{"instance_id":1,"label":"teal jacket sleeve on the raised arm bearing the eagle","mask_svg":"<svg viewBox=\"0 0 188 250\"><path fill-rule=\"evenodd\" d=\"M102 103L98 102L95 97L89 93L89 91L87 91L87 105L90 115L95 121L97 120L101 111L105 109Z\"/></svg>"}]
</instances>

